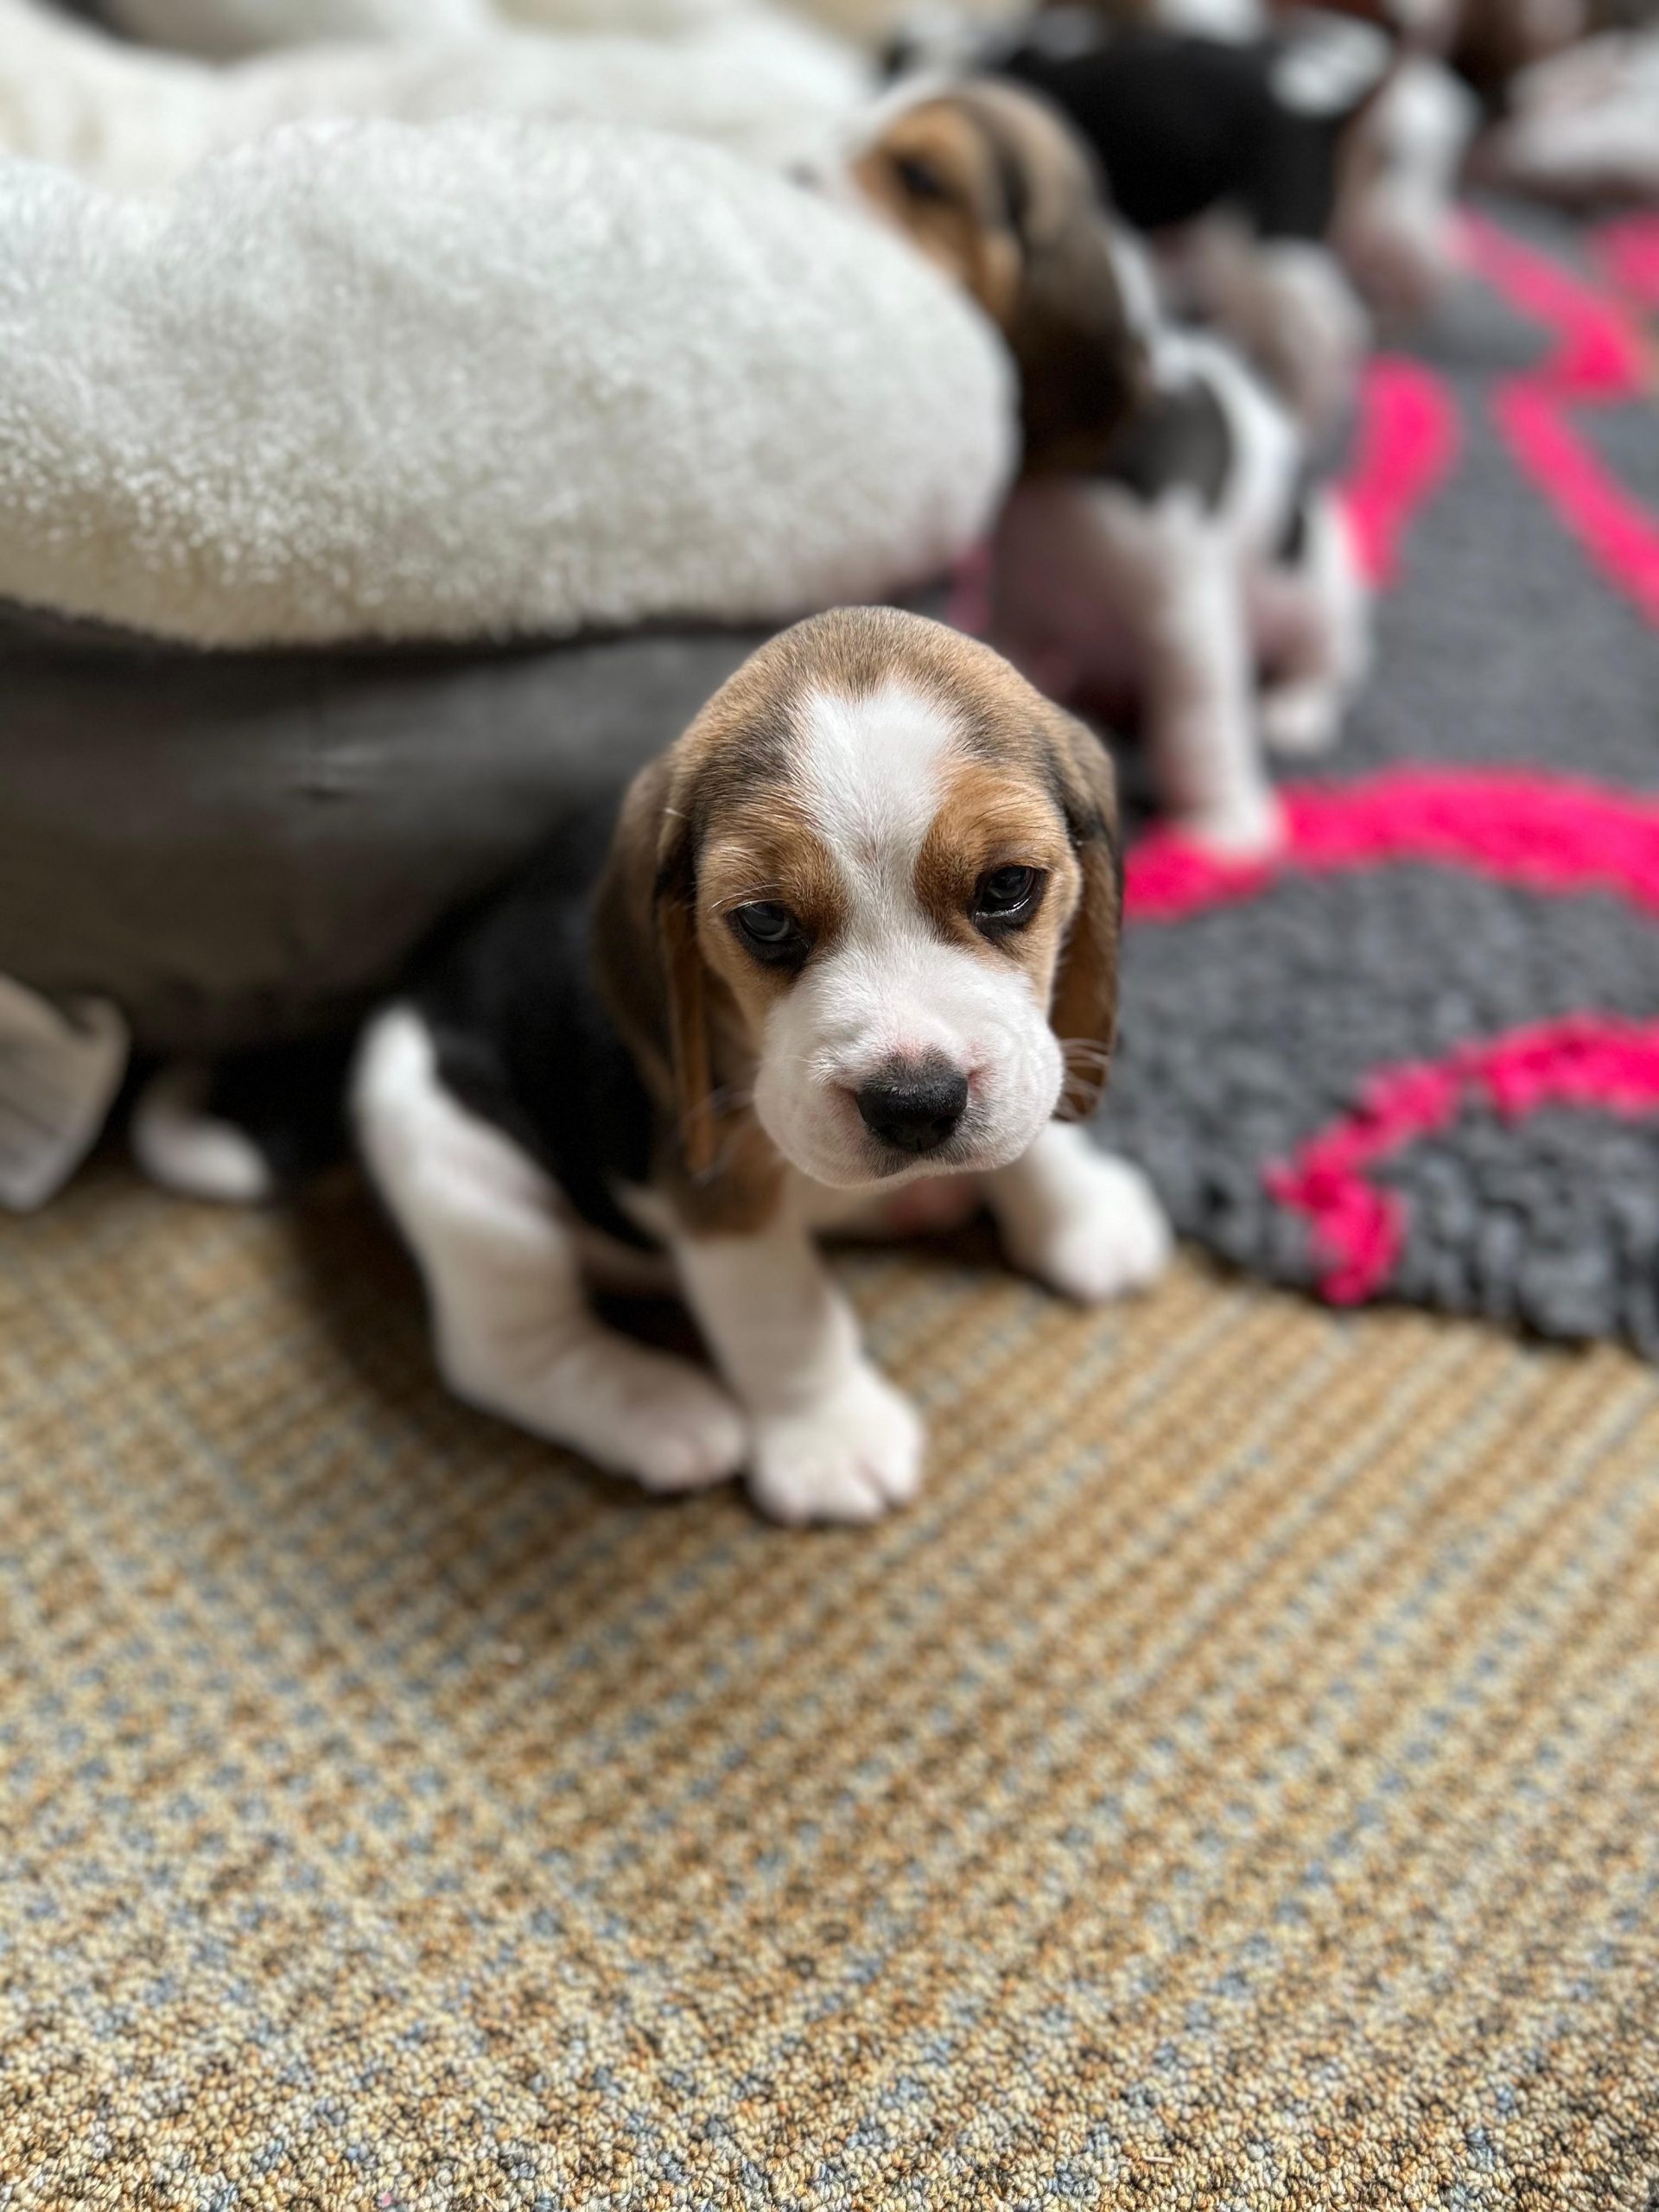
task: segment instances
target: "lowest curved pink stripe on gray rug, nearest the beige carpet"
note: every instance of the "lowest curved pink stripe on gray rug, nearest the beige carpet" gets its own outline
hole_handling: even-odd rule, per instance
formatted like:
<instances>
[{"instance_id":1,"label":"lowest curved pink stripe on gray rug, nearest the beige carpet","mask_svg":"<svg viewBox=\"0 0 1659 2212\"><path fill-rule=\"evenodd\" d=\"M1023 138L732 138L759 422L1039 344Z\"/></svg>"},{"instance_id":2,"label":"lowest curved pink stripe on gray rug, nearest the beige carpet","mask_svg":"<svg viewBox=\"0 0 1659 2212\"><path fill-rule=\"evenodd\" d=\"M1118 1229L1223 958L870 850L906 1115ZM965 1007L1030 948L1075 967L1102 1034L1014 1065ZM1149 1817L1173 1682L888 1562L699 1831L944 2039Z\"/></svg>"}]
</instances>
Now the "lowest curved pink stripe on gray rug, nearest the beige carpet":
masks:
<instances>
[{"instance_id":1,"label":"lowest curved pink stripe on gray rug, nearest the beige carpet","mask_svg":"<svg viewBox=\"0 0 1659 2212\"><path fill-rule=\"evenodd\" d=\"M1467 1044L1449 1060L1374 1075L1352 1115L1263 1177L1281 1206L1312 1223L1325 1261L1318 1287L1332 1305L1374 1298L1405 1243L1398 1192L1380 1190L1365 1170L1413 1137L1447 1128L1469 1097L1482 1095L1511 1121L1559 1104L1628 1117L1659 1113L1659 1022L1573 1013Z\"/></svg>"}]
</instances>

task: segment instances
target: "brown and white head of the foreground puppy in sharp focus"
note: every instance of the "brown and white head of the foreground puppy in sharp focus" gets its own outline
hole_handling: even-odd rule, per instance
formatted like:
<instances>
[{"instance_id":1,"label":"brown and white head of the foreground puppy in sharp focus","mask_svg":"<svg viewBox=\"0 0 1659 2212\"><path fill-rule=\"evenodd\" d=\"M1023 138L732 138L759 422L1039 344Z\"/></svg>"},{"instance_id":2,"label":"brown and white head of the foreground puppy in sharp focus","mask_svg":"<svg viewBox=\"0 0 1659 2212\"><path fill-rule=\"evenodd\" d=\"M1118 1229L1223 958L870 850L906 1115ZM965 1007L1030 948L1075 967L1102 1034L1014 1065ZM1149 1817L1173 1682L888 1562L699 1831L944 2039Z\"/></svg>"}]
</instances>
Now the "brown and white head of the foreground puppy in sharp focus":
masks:
<instances>
[{"instance_id":1,"label":"brown and white head of the foreground puppy in sharp focus","mask_svg":"<svg viewBox=\"0 0 1659 2212\"><path fill-rule=\"evenodd\" d=\"M1119 905L1099 741L987 646L841 611L637 779L602 971L692 1175L759 1124L856 1188L1006 1166L1093 1106Z\"/></svg>"}]
</instances>

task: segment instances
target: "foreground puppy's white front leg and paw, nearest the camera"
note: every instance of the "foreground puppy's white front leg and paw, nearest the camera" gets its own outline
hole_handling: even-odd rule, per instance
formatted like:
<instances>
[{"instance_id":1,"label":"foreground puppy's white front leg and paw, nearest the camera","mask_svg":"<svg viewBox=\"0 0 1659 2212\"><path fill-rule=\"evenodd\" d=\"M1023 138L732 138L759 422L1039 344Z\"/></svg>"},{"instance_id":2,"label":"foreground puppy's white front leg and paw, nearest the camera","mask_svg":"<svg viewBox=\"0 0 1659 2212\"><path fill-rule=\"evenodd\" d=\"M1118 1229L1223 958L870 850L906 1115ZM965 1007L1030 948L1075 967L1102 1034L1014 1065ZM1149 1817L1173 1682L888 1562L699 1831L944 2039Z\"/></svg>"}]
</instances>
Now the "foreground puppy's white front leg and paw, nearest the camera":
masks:
<instances>
[{"instance_id":1,"label":"foreground puppy's white front leg and paw, nearest the camera","mask_svg":"<svg viewBox=\"0 0 1659 2212\"><path fill-rule=\"evenodd\" d=\"M807 1232L675 1243L686 1301L752 1420L754 1502L781 1522L878 1520L916 1495L922 1425L858 1343Z\"/></svg>"}]
</instances>

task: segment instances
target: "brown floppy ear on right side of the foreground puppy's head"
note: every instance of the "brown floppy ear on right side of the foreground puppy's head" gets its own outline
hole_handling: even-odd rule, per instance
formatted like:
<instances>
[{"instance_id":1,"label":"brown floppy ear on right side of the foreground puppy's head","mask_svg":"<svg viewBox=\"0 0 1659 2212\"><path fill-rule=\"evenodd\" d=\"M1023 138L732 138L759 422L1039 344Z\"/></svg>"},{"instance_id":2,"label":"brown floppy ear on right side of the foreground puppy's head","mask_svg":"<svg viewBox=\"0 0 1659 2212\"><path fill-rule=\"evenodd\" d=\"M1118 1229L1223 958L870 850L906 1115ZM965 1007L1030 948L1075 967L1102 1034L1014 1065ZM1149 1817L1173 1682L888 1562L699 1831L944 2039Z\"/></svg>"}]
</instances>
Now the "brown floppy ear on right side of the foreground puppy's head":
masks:
<instances>
[{"instance_id":1,"label":"brown floppy ear on right side of the foreground puppy's head","mask_svg":"<svg viewBox=\"0 0 1659 2212\"><path fill-rule=\"evenodd\" d=\"M1117 942L1124 918L1117 776L1106 745L1071 714L1055 710L1051 745L1055 796L1084 883L1060 951L1048 1026L1066 1051L1057 1119L1086 1121L1106 1088L1117 1040Z\"/></svg>"}]
</instances>

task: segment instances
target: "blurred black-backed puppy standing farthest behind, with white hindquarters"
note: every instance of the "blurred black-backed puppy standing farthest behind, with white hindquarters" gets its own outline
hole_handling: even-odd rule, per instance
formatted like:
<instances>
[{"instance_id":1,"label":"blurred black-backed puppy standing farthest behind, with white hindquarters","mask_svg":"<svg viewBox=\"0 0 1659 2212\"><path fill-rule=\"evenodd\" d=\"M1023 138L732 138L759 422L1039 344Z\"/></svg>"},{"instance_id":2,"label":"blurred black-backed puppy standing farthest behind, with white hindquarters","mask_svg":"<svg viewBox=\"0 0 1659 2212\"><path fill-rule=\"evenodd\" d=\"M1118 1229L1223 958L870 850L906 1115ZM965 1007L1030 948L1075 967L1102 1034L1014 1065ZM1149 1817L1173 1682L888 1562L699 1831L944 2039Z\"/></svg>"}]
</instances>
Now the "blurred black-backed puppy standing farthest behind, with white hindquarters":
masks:
<instances>
[{"instance_id":1,"label":"blurred black-backed puppy standing farthest behind, with white hindquarters","mask_svg":"<svg viewBox=\"0 0 1659 2212\"><path fill-rule=\"evenodd\" d=\"M1228 332L1312 429L1352 396L1367 310L1418 314L1449 279L1473 108L1374 22L1263 11L1259 27L1199 29L1172 0L1068 4L898 53L927 60L1053 102L1124 221L1157 237L1170 296Z\"/></svg>"}]
</instances>

